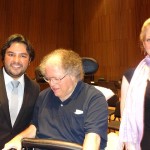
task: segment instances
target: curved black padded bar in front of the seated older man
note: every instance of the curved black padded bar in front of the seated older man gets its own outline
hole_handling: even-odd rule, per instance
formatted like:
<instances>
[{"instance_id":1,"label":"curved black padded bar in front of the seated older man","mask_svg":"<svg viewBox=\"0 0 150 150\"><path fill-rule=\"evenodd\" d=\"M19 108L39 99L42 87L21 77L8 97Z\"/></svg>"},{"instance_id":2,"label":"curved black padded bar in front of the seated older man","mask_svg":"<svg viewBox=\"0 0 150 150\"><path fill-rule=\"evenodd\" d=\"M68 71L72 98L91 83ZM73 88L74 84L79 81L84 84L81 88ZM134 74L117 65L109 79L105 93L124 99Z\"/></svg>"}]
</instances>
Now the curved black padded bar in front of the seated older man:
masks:
<instances>
[{"instance_id":1,"label":"curved black padded bar in front of the seated older man","mask_svg":"<svg viewBox=\"0 0 150 150\"><path fill-rule=\"evenodd\" d=\"M22 140L22 147L26 150L28 148L43 148L47 150L82 150L82 146L76 143L36 138L24 138Z\"/></svg>"}]
</instances>

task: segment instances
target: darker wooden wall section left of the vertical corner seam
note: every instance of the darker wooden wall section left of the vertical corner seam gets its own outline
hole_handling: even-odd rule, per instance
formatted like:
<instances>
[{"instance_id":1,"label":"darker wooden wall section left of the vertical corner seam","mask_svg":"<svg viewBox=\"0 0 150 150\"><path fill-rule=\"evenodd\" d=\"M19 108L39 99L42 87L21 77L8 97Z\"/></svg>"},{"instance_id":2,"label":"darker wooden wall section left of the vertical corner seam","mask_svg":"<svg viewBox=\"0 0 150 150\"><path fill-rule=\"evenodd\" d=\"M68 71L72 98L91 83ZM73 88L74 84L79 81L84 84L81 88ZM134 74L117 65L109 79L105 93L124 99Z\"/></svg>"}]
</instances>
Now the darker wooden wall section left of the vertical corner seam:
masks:
<instances>
[{"instance_id":1,"label":"darker wooden wall section left of the vertical corner seam","mask_svg":"<svg viewBox=\"0 0 150 150\"><path fill-rule=\"evenodd\" d=\"M72 0L0 0L0 45L14 33L29 38L36 51L28 74L56 48L73 48ZM2 64L1 64L2 65Z\"/></svg>"}]
</instances>

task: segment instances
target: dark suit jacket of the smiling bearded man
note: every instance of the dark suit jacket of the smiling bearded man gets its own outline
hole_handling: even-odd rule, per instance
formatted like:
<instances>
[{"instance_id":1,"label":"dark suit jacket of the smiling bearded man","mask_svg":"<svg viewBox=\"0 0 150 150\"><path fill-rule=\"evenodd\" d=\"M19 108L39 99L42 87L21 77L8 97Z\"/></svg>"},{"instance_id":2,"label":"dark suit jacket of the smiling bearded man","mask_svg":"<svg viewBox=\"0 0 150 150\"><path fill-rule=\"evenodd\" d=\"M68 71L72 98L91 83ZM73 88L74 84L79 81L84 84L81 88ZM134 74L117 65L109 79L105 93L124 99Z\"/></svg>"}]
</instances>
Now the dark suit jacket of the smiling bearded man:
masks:
<instances>
[{"instance_id":1,"label":"dark suit jacket of the smiling bearded man","mask_svg":"<svg viewBox=\"0 0 150 150\"><path fill-rule=\"evenodd\" d=\"M6 142L27 128L31 121L34 105L39 95L40 88L35 81L29 79L26 75L24 78L25 88L23 104L14 127L12 128L3 71L0 70L0 150L4 147Z\"/></svg>"}]
</instances>

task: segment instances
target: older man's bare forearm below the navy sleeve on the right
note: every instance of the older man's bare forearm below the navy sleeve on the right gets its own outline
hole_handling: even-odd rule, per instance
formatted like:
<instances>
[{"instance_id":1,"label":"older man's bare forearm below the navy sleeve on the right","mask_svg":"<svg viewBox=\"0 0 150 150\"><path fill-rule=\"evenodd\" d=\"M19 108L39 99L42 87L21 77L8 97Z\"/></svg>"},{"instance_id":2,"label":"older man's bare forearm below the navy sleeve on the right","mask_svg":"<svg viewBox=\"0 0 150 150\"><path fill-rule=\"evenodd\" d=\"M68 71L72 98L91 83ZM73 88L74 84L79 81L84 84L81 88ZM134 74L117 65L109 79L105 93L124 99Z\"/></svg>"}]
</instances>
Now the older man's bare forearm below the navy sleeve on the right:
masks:
<instances>
[{"instance_id":1,"label":"older man's bare forearm below the navy sleeve on the right","mask_svg":"<svg viewBox=\"0 0 150 150\"><path fill-rule=\"evenodd\" d=\"M83 150L99 150L101 138L96 133L88 133L85 135Z\"/></svg>"}]
</instances>

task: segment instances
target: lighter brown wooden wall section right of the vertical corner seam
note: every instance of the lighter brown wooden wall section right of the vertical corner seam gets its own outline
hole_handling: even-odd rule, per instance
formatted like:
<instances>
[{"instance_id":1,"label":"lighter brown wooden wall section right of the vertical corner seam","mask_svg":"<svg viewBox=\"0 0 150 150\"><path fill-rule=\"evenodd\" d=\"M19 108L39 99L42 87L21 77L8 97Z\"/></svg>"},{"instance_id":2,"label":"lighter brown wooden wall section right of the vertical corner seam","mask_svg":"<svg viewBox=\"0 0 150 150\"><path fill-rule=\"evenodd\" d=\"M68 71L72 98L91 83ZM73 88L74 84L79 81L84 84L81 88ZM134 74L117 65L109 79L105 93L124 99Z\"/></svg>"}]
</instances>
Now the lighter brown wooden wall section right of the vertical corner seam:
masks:
<instances>
[{"instance_id":1,"label":"lighter brown wooden wall section right of the vertical corner seam","mask_svg":"<svg viewBox=\"0 0 150 150\"><path fill-rule=\"evenodd\" d=\"M74 49L98 61L96 78L119 80L143 58L138 38L149 8L148 0L74 0Z\"/></svg>"}]
</instances>

